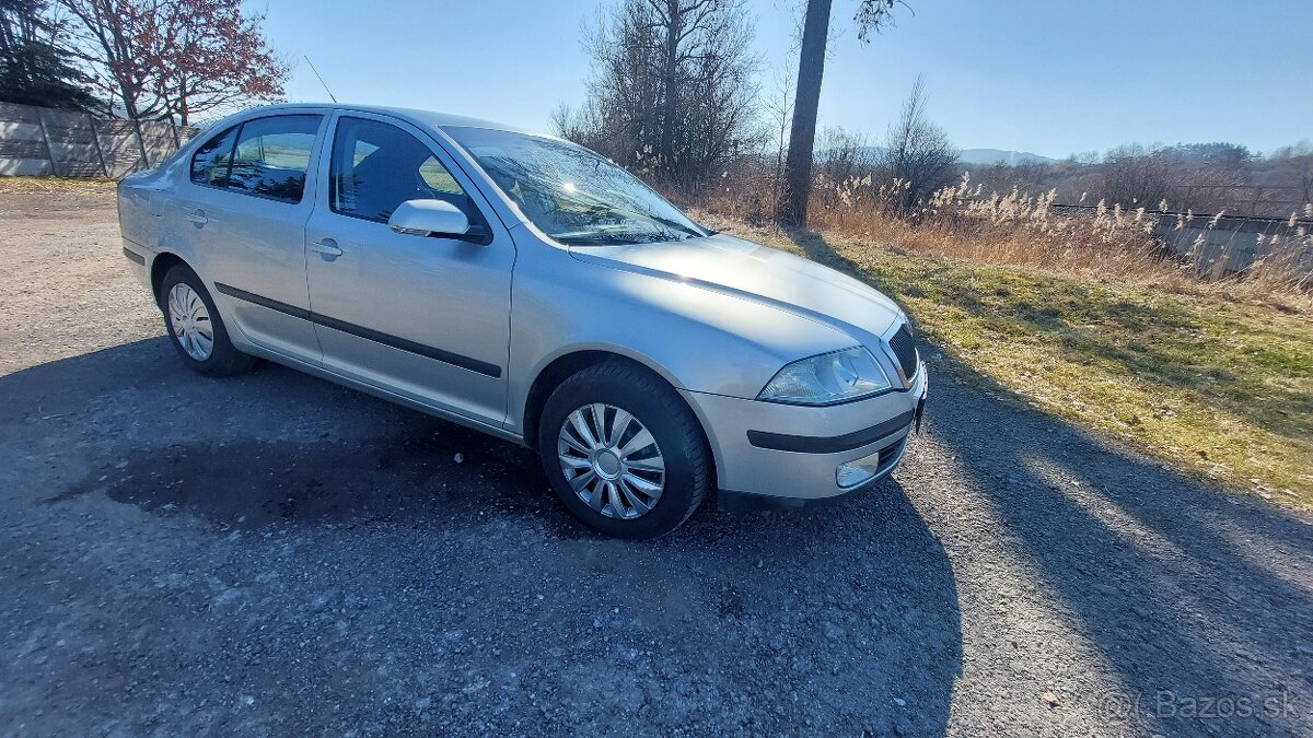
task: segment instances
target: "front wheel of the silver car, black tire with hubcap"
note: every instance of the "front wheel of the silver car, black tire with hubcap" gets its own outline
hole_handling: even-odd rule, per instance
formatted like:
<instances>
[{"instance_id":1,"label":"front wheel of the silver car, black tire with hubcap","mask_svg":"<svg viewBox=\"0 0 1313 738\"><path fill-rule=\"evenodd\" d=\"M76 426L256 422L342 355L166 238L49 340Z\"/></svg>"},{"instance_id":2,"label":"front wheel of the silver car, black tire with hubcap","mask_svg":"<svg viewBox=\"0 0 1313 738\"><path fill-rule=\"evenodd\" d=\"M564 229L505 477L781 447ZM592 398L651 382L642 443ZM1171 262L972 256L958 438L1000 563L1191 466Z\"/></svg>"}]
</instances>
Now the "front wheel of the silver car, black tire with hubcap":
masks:
<instances>
[{"instance_id":1,"label":"front wheel of the silver car, black tire with hubcap","mask_svg":"<svg viewBox=\"0 0 1313 738\"><path fill-rule=\"evenodd\" d=\"M582 415L571 420L576 411ZM618 437L601 439L601 444L580 444L584 439L576 429L580 418L584 423L591 419L593 431L600 427L600 433L591 435L614 433ZM639 437L642 429L650 433L654 445ZM575 446L562 440L563 433ZM616 443L608 446L609 440ZM597 458L596 464L584 460L586 448L592 449L588 458ZM621 453L613 453L613 460L601 458L608 450L626 449L629 456L624 456L624 461L618 461ZM702 503L712 483L710 449L693 411L664 380L626 361L605 361L583 369L551 393L538 420L538 453L542 470L566 508L590 527L617 538L655 538L679 528ZM570 456L570 464L583 466L567 471L562 454ZM663 466L660 474L650 469L656 464ZM591 481L604 487L607 479L600 474L608 470L618 474L609 490L588 494L586 485L584 492L591 502L575 491L567 477L572 474L578 485L591 473ZM658 478L662 488L654 499L649 495ZM612 498L617 498L616 504ZM642 506L637 503L650 506L639 512ZM637 515L626 517L626 513Z\"/></svg>"}]
</instances>

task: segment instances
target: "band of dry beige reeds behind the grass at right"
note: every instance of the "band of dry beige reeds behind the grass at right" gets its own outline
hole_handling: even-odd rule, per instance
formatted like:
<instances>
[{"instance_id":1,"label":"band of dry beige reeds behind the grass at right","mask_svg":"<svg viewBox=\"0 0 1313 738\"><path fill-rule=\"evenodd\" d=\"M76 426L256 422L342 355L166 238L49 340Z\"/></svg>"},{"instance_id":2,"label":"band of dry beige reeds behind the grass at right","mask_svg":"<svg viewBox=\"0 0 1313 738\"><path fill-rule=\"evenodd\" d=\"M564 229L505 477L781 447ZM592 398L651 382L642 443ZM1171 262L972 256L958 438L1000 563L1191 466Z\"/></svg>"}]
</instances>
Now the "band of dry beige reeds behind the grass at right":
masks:
<instances>
[{"instance_id":1,"label":"band of dry beige reeds behind the grass at right","mask_svg":"<svg viewBox=\"0 0 1313 738\"><path fill-rule=\"evenodd\" d=\"M876 183L869 176L842 183L819 179L809 209L810 226L909 252L1313 315L1313 269L1301 267L1301 259L1313 255L1313 235L1300 226L1297 213L1291 215L1295 232L1284 242L1278 235L1259 236L1271 256L1242 273L1226 273L1222 267L1229 260L1229 246L1221 247L1221 253L1201 248L1200 235L1188 253L1171 253L1155 235L1187 226L1209 230L1220 218L1200 221L1191 214L1161 223L1162 217L1144 206L1128 209L1104 202L1060 214L1052 207L1052 192L985 196L985 188L973 186L969 177L939 190L930 202L907 207L899 197L907 186L897 180ZM760 227L769 211L769 198L763 193L769 192L763 183L723 186L699 205ZM1157 210L1166 209L1167 204L1159 204ZM1313 217L1313 205L1304 213Z\"/></svg>"}]
</instances>

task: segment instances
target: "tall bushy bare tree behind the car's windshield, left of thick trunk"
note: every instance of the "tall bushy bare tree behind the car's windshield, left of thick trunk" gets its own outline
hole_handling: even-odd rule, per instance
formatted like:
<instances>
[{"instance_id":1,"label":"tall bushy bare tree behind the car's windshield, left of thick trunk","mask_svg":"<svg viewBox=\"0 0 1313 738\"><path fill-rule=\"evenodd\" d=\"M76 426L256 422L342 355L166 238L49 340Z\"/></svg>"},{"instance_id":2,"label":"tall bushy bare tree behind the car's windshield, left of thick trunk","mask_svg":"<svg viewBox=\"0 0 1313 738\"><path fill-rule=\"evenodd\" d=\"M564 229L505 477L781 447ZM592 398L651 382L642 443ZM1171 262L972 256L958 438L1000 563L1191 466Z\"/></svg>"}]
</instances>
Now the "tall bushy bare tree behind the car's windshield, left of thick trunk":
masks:
<instances>
[{"instance_id":1,"label":"tall bushy bare tree behind the car's windshield, left of thick trunk","mask_svg":"<svg viewBox=\"0 0 1313 738\"><path fill-rule=\"evenodd\" d=\"M586 35L588 100L558 133L684 189L759 143L743 0L621 0Z\"/></svg>"}]
</instances>

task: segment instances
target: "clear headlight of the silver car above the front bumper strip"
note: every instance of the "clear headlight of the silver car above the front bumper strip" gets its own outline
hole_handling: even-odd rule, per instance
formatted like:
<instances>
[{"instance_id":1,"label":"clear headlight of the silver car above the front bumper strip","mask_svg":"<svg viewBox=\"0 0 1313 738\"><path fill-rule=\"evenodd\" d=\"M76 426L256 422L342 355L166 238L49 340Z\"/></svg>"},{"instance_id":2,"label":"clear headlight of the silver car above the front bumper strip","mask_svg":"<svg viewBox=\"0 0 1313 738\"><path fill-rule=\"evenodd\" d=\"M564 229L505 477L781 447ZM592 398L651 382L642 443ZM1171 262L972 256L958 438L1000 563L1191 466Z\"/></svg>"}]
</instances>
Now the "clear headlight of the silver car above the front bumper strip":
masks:
<instances>
[{"instance_id":1,"label":"clear headlight of the silver car above the front bumper strip","mask_svg":"<svg viewBox=\"0 0 1313 738\"><path fill-rule=\"evenodd\" d=\"M863 347L822 353L780 369L756 399L797 404L832 404L888 390L893 385Z\"/></svg>"}]
</instances>

